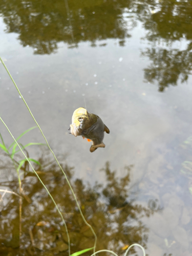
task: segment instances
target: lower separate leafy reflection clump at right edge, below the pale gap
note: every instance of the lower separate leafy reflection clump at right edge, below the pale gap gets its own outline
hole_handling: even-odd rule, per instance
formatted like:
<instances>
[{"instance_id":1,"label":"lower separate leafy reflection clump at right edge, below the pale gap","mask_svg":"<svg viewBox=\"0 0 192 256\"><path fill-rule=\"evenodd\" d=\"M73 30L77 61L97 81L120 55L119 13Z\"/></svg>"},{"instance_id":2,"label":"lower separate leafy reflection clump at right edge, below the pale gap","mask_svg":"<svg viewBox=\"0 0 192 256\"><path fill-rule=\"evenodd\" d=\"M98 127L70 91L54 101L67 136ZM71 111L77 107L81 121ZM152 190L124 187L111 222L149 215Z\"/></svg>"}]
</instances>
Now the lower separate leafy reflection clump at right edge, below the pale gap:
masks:
<instances>
[{"instance_id":1,"label":"lower separate leafy reflection clump at right edge, below the pale gap","mask_svg":"<svg viewBox=\"0 0 192 256\"><path fill-rule=\"evenodd\" d=\"M142 53L152 60L152 64L144 69L144 77L149 82L158 80L159 91L164 91L169 84L177 86L177 81L181 76L181 82L188 79L192 67L192 43L187 50L179 51L166 49L147 49Z\"/></svg>"}]
</instances>

